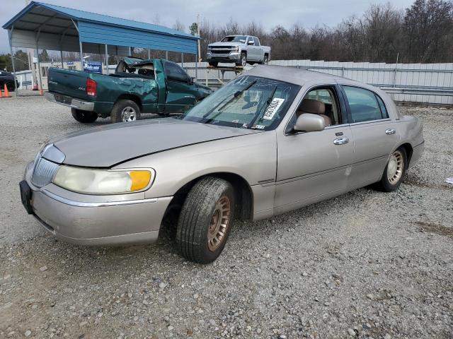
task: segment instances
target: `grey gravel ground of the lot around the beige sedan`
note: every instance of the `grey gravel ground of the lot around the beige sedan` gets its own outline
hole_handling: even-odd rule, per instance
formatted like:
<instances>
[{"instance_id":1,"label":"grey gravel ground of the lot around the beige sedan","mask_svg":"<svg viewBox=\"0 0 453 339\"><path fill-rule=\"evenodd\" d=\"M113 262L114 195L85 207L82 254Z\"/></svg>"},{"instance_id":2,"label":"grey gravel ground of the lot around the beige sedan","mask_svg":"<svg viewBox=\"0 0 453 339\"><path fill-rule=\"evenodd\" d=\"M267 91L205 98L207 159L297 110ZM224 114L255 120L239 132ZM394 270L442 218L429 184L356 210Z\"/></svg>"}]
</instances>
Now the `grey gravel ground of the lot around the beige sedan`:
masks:
<instances>
[{"instance_id":1,"label":"grey gravel ground of the lot around the beige sedan","mask_svg":"<svg viewBox=\"0 0 453 339\"><path fill-rule=\"evenodd\" d=\"M86 126L42 97L3 99L0 338L453 338L453 111L402 110L423 119L426 150L398 191L236 222L200 266L168 232L86 248L40 230L18 194L25 164Z\"/></svg>"}]
</instances>

